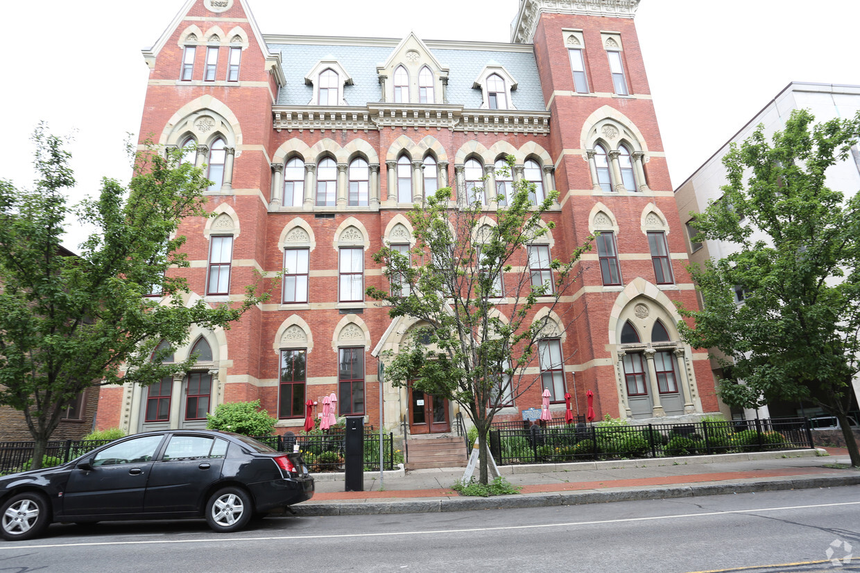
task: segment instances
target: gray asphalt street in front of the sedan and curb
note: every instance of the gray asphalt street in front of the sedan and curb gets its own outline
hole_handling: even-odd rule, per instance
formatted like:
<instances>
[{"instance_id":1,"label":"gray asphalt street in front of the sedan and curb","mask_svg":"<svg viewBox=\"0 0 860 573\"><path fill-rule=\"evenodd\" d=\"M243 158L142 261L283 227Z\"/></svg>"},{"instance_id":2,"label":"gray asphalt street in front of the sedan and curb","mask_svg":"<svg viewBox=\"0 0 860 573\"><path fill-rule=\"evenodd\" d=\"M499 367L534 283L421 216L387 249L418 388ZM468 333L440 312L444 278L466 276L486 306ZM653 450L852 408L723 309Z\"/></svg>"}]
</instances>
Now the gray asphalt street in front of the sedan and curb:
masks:
<instances>
[{"instance_id":1,"label":"gray asphalt street in front of the sedan and curb","mask_svg":"<svg viewBox=\"0 0 860 573\"><path fill-rule=\"evenodd\" d=\"M860 570L857 515L860 486L451 514L270 517L227 535L203 521L53 525L46 538L0 545L0 571L835 570L830 559L840 559L839 570Z\"/></svg>"}]
</instances>

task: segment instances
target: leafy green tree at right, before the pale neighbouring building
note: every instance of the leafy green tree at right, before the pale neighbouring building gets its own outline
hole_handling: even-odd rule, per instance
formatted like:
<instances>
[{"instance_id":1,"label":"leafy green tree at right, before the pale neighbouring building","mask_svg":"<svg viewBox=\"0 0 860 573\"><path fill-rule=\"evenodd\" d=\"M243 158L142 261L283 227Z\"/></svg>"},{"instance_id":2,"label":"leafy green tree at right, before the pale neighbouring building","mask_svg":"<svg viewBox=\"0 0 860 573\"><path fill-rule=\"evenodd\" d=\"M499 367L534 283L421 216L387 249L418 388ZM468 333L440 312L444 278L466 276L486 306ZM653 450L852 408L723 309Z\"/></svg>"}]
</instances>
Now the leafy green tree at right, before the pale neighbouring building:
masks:
<instances>
[{"instance_id":1,"label":"leafy green tree at right, before the pale neighbouring building","mask_svg":"<svg viewBox=\"0 0 860 573\"><path fill-rule=\"evenodd\" d=\"M692 346L720 351L731 373L719 381L728 404L809 400L839 419L851 464L860 466L846 418L860 351L860 196L826 186L827 168L857 143L860 114L813 122L796 111L772 142L759 125L731 146L724 195L696 227L736 251L692 269L704 309L685 313L694 328L679 326Z\"/></svg>"}]
</instances>

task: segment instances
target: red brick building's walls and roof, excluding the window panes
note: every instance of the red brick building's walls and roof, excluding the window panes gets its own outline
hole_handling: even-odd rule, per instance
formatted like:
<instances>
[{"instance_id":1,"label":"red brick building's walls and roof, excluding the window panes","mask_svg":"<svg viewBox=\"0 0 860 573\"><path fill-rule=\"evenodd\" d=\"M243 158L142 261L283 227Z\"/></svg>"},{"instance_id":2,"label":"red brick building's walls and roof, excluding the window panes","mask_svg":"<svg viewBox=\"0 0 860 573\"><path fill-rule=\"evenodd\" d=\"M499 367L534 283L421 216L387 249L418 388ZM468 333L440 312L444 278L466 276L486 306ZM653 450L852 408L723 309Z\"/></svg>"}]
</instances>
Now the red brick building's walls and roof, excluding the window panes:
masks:
<instances>
[{"instance_id":1,"label":"red brick building's walls and roof, excluding the window panes","mask_svg":"<svg viewBox=\"0 0 860 573\"><path fill-rule=\"evenodd\" d=\"M635 8L636 3L632 4ZM459 178L464 162L476 158L487 168L510 153L517 158L517 176L525 173L526 162L535 162L544 188L554 186L561 192L558 204L545 215L556 222L552 257L564 259L595 231L611 231L617 239L621 284L604 286L594 248L580 264L581 282L556 311L576 317L562 337L566 389L574 394L575 407L585 413L590 389L599 418L717 410L706 355L685 347L674 327L679 320L675 303L695 307L697 302L685 271L685 242L632 12L615 17L559 14L553 9L538 11L536 7L544 6L540 0L525 0L519 15L521 21L528 21L519 30L528 28L531 34L525 43L425 44L410 35L394 45L375 39L264 38L245 0L231 0L228 5L213 12L207 9L208 0L189 0L186 15L175 29L144 52L151 75L140 132L156 134L155 143L163 145L181 145L191 136L198 145L208 146L221 137L228 148L223 185L207 192L208 209L218 215L188 220L180 229L187 236L185 250L192 263L181 274L194 297L212 303L226 300L206 295L213 235L233 237L231 301L241 298L243 285L253 280L255 269L267 273L265 282L271 286L271 277L278 276L284 265L285 247L310 250L309 292L307 303L281 304L276 290L273 301L252 308L229 331L192 333L191 344L203 337L214 355L212 363L200 369L203 372L205 367L212 375L210 409L222 401L261 399L268 411L276 413L281 349L307 350L306 399L319 401L329 393L339 396L338 349L359 346L364 348L365 416L377 426L380 384L375 351L396 347L402 332L397 328L387 332L391 324L387 309L366 299L338 302L338 247L362 248L364 287L384 288L382 269L371 255L391 241L392 229L404 224L403 216L411 206L398 204L397 190L390 186L396 181L396 160L405 154L413 177L421 181L417 162L429 155L439 164L439 185L447 181L462 189ZM584 42L580 48L589 87L585 94L575 91L568 57L574 40L569 31L581 34ZM187 46L196 46L194 72L191 81L181 81ZM613 46L623 48L619 52L627 95L614 93L607 58L607 49L614 51ZM202 79L206 52L213 47L219 51L216 80L207 82ZM227 82L230 48L236 47L242 49L239 81ZM334 54L334 64L327 63L329 54ZM415 76L422 64L433 74L433 102L396 102L393 71L400 65L410 70L410 101L417 101ZM318 71L326 66L342 70L337 76L339 105L317 104L322 82ZM316 75L309 70L317 70ZM480 85L479 80L473 83L475 70L481 72ZM492 107L487 79L491 74L503 79L507 88L507 94L494 97L509 96L513 108L488 108ZM596 145L610 152L609 191L594 180ZM623 150L632 157L629 172L635 178L634 189L622 184L626 164L621 163L624 157L616 157ZM304 200L290 206L282 204L282 181L285 163L295 157L304 162L304 181L310 183L310 191L306 188ZM351 207L347 205L347 166L356 157L370 164L370 191L366 205ZM338 197L334 205L318 206L314 183L322 177L317 172L325 158L339 166ZM206 161L199 156L200 164ZM493 212L488 209L488 216ZM655 284L649 229L666 237L671 284ZM525 255L522 264L527 264ZM540 305L533 312L539 314ZM650 332L656 319L666 326L670 340L652 344ZM641 343L621 343L627 321L640 332ZM625 352L641 355L643 363L649 364L644 399L627 396ZM665 405L657 401L659 393L654 395L657 382L648 357L655 352L660 359L665 355L669 360L671 355L674 365L674 383L669 383ZM145 422L146 389L106 388L101 393L98 424L119 424L131 431L199 424L183 422L185 384L175 381L169 420L161 425ZM382 391L383 424L398 432L403 417L409 415L408 393L387 383ZM538 383L500 418L519 419L520 410L540 405L540 393ZM342 406L340 396L339 401ZM456 407L447 406L449 418ZM321 411L322 404L316 408ZM563 402L552 409L561 416ZM302 422L300 417L282 419L278 430L295 430Z\"/></svg>"}]
</instances>

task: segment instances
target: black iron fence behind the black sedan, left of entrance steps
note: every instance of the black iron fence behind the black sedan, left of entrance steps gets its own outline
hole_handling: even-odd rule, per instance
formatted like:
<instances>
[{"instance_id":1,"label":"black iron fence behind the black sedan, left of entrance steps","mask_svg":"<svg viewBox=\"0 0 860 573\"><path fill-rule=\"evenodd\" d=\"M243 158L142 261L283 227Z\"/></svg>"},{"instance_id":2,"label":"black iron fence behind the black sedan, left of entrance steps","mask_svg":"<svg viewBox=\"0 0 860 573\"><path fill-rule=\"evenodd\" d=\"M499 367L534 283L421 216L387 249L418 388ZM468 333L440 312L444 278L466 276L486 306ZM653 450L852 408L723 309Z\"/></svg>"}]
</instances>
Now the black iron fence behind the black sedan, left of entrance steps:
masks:
<instances>
[{"instance_id":1,"label":"black iron fence behind the black sedan, left of entrance steps","mask_svg":"<svg viewBox=\"0 0 860 573\"><path fill-rule=\"evenodd\" d=\"M258 436L256 440L279 452L292 452L298 442L311 472L343 470L343 431L310 436ZM113 440L61 440L47 443L43 466L58 466ZM383 468L394 469L394 436L383 436ZM379 435L365 430L365 471L379 470ZM33 442L0 442L0 473L23 472L33 464Z\"/></svg>"}]
</instances>

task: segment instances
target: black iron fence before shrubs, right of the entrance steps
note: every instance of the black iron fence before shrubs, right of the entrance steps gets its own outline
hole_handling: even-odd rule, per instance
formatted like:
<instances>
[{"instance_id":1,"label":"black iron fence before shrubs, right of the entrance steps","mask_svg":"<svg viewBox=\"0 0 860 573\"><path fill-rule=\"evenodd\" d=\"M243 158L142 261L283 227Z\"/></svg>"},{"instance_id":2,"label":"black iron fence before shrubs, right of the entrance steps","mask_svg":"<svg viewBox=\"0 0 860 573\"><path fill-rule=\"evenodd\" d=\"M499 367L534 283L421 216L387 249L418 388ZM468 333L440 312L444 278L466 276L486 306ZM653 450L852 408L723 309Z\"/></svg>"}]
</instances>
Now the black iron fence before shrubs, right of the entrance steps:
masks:
<instances>
[{"instance_id":1,"label":"black iron fence before shrubs, right of the entrance steps","mask_svg":"<svg viewBox=\"0 0 860 573\"><path fill-rule=\"evenodd\" d=\"M575 424L490 430L498 464L657 458L813 448L807 418L690 424Z\"/></svg>"}]
</instances>

